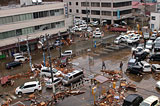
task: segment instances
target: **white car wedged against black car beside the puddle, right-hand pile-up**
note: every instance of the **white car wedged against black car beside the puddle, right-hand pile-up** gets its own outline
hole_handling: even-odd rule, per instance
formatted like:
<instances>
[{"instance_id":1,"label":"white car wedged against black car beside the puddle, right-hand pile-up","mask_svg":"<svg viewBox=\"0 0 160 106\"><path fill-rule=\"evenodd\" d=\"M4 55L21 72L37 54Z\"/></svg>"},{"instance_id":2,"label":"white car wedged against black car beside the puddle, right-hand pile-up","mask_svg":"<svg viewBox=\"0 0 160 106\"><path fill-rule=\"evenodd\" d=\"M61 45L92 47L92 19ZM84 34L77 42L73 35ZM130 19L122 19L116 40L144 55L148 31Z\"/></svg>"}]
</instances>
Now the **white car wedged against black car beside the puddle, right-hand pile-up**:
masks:
<instances>
[{"instance_id":1,"label":"white car wedged against black car beside the puddle, right-hand pile-up","mask_svg":"<svg viewBox=\"0 0 160 106\"><path fill-rule=\"evenodd\" d=\"M138 65L143 68L143 72L151 72L151 65L146 61L138 62Z\"/></svg>"}]
</instances>

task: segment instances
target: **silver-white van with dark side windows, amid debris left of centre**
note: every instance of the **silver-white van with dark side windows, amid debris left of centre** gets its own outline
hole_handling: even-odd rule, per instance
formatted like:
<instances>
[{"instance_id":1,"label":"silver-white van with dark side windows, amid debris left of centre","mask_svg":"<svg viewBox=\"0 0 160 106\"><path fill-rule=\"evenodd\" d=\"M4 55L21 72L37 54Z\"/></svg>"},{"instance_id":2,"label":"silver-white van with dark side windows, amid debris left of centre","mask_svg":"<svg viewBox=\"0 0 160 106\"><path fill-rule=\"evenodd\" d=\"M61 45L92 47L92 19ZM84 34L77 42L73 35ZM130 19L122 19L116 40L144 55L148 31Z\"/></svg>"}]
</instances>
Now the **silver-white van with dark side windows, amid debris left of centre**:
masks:
<instances>
[{"instance_id":1,"label":"silver-white van with dark side windows, amid debris left of centre","mask_svg":"<svg viewBox=\"0 0 160 106\"><path fill-rule=\"evenodd\" d=\"M71 73L68 73L64 76L64 79L62 80L63 85L70 85L74 82L79 81L80 79L83 79L84 74L83 70L74 70Z\"/></svg>"}]
</instances>

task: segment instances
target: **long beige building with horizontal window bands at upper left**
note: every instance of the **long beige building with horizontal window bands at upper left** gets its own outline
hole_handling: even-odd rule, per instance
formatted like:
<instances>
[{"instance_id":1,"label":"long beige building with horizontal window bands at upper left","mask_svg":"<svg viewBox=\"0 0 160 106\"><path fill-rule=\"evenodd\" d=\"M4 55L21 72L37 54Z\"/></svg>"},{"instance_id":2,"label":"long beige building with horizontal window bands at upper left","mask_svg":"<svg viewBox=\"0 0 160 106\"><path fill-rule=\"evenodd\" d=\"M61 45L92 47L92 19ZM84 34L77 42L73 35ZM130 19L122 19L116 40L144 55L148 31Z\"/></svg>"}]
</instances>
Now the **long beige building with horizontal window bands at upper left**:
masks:
<instances>
[{"instance_id":1,"label":"long beige building with horizontal window bands at upper left","mask_svg":"<svg viewBox=\"0 0 160 106\"><path fill-rule=\"evenodd\" d=\"M24 51L27 36L34 50L41 35L57 36L59 31L64 34L72 22L66 17L63 2L26 4L0 7L0 55L17 52L19 44Z\"/></svg>"}]
</instances>

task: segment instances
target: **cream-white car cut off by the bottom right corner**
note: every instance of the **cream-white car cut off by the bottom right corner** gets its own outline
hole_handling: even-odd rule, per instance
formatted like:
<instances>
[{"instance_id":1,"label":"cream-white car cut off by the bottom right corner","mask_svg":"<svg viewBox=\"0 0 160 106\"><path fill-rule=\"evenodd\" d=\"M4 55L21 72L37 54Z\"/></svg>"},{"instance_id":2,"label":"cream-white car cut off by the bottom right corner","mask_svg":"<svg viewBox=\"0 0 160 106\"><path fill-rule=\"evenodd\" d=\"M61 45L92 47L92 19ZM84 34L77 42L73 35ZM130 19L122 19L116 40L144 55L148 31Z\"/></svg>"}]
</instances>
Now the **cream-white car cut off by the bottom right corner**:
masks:
<instances>
[{"instance_id":1,"label":"cream-white car cut off by the bottom right corner","mask_svg":"<svg viewBox=\"0 0 160 106\"><path fill-rule=\"evenodd\" d=\"M145 100L143 100L139 106L158 106L159 98L157 96L149 96Z\"/></svg>"}]
</instances>

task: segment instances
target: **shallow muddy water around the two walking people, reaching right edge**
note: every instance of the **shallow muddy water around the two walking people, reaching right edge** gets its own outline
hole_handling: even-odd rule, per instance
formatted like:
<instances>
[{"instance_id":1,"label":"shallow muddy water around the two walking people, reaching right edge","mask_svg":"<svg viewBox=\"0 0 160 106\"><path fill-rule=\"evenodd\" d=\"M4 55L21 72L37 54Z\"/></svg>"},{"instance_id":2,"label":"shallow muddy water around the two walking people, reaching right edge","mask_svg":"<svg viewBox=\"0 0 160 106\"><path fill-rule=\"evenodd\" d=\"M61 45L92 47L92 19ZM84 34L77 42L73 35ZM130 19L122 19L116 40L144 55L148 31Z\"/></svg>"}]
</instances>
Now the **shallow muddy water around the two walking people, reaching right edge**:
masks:
<instances>
[{"instance_id":1,"label":"shallow muddy water around the two walking people, reaching right edge","mask_svg":"<svg viewBox=\"0 0 160 106\"><path fill-rule=\"evenodd\" d=\"M102 61L105 61L106 68L108 70L119 70L120 62L123 62L123 72L124 77L127 79L127 81L132 82L133 84L137 85L137 90L139 94L141 94L144 98L150 96L150 95L156 95L160 97L160 90L155 88L155 84L158 80L158 78L155 77L155 74L152 73L146 73L142 76L133 75L129 73L125 73L127 69L127 63L128 60L131 58L131 50L130 49L124 49L118 52L113 52L110 54L106 54L103 56L99 56L99 58L94 58L94 64L89 66L89 56L84 55L82 57L79 57L75 59L73 62L78 62L80 67L85 68L85 73L101 73L100 70L102 68ZM154 62L159 63L160 62ZM135 93L135 92L129 92L129 93Z\"/></svg>"}]
</instances>

